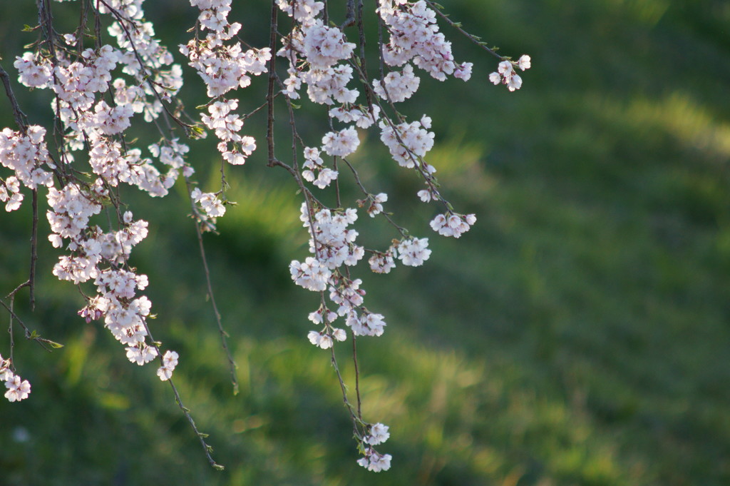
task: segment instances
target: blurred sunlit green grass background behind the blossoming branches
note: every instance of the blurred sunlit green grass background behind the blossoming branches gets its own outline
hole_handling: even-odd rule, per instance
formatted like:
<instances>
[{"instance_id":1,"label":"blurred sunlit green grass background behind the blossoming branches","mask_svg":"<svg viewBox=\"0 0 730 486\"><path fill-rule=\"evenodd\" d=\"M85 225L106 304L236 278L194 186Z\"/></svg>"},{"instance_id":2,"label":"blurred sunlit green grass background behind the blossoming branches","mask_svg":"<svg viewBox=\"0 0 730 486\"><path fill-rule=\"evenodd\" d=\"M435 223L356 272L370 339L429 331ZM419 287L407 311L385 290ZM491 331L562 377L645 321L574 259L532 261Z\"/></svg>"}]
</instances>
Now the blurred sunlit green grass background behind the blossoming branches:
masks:
<instances>
[{"instance_id":1,"label":"blurred sunlit green grass background behind the blossoming branches","mask_svg":"<svg viewBox=\"0 0 730 486\"><path fill-rule=\"evenodd\" d=\"M35 39L20 33L36 18L30 3L0 7L8 71ZM187 2L147 3L158 37L172 50L185 42ZM253 3L232 18L265 45L269 7ZM415 201L417 181L374 134L353 159L434 249L424 267L361 272L366 305L388 322L358 349L364 417L391 426L380 447L391 470L356 465L328 353L305 337L318 299L288 276L288 262L307 254L296 188L266 170L259 149L230 171L239 205L205 237L239 364L235 397L182 189L164 201L127 191L136 216L150 219L133 259L150 276L153 332L180 352L175 380L226 471L207 465L154 367L131 365L106 330L75 315L82 300L51 276L58 252L43 244L37 310L27 293L16 308L66 346L47 354L16 335L18 373L33 392L0 400L0 485L730 484L730 3L441 3L502 53L530 54L533 67L516 93L491 86L496 61L442 26L475 75L422 77L404 105L432 116L430 162L456 208L477 213L461 240L431 232L436 208ZM74 5L53 7L59 30L70 28ZM203 94L188 79L193 107ZM31 120L47 124L47 93L14 86ZM256 80L242 105L258 105L263 89ZM315 115L302 113L312 143ZM12 125L5 96L0 121ZM245 127L259 145L263 124ZM214 153L193 144L207 189ZM3 295L27 278L28 206L2 216ZM369 243L393 237L365 223ZM339 354L353 384L347 346Z\"/></svg>"}]
</instances>

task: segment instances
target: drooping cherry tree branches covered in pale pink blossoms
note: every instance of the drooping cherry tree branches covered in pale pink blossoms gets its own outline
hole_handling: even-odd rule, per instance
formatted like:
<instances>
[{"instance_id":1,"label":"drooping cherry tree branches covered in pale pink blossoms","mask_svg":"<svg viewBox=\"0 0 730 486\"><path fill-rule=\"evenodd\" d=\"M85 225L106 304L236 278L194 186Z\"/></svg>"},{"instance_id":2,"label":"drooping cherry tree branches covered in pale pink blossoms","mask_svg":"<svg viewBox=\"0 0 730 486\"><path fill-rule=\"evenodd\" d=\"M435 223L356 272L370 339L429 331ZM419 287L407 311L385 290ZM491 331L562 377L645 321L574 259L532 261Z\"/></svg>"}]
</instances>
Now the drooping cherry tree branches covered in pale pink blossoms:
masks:
<instances>
[{"instance_id":1,"label":"drooping cherry tree branches covered in pale pink blossoms","mask_svg":"<svg viewBox=\"0 0 730 486\"><path fill-rule=\"evenodd\" d=\"M477 217L453 207L439 185L437 167L428 162L434 146L429 115L408 119L398 105L418 90L421 77L466 81L472 76L472 63L456 61L441 25L496 57L496 71L477 83L515 91L522 86L518 72L530 67L530 58L512 61L500 56L431 0L377 0L377 37L369 39L364 2L345 1L345 18L337 19L329 15L327 1L272 0L269 43L254 46L246 41L241 23L229 19L231 0L191 0L197 20L188 31L189 41L174 48L155 37L153 23L145 18L144 0L76 0L80 22L67 32L55 28L56 2L37 1L38 24L27 26L24 34L31 42L28 50L17 53L12 68L0 63L15 121L0 132L0 202L13 211L30 199L33 218L28 279L0 299L10 316L9 346L0 356L7 400L21 401L31 393L31 384L20 376L23 363L13 360L13 326L41 346L61 346L29 330L14 308L16 295L26 289L33 307L37 246L50 244L61 252L53 275L79 290L80 319L98 321L109 330L132 363L156 363L157 376L172 387L207 460L222 468L174 385L174 369L184 356L167 349L164 338L153 338L152 303L142 292L155 279L138 273L132 256L147 237L147 221L134 213L119 188L134 186L162 204L173 186L185 187L190 205L180 210L193 216L207 290L237 392L236 364L215 304L202 235L215 231L217 219L231 204L226 172L242 169L228 165L243 165L251 158L249 163L288 172L292 191L301 197L309 254L291 262L289 270L293 283L314 295L306 337L326 350L333 364L352 419L358 464L370 471L390 468L391 455L376 449L388 440L388 426L363 417L358 375L350 397L334 349L351 341L357 363L356 340L385 331L385 316L365 305L366 290L358 273L417 267L429 259L431 249L428 237L398 224L397 208L388 207L388 194L364 185L350 156L358 151L364 131L376 132L393 162L422 183L413 197L439 208L431 229L459 238ZM366 42L375 49L366 49ZM208 101L197 108L198 114L184 104L180 63L193 68L207 89ZM255 110L242 113L239 99L253 83L265 84L265 99ZM19 84L50 91L47 126L28 123L14 84L16 89ZM322 129L317 138L305 139L298 131L296 103L301 102L320 106ZM256 123L266 124L264 140L245 134L244 126L254 115ZM274 140L274 128L280 125L288 126L291 134L285 140L287 148ZM154 135L133 140L133 126L146 126ZM217 140L221 178L214 192L200 189L189 157L196 139L204 137ZM257 151L258 145L264 149ZM344 200L340 181L353 184L361 197ZM330 199L334 196L334 205L324 202L327 193ZM39 229L45 227L39 225L43 214L50 232ZM390 225L389 246L366 248L359 243L358 219L363 217ZM159 327L155 335L164 334L164 326Z\"/></svg>"}]
</instances>

